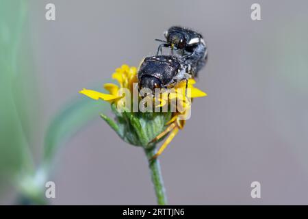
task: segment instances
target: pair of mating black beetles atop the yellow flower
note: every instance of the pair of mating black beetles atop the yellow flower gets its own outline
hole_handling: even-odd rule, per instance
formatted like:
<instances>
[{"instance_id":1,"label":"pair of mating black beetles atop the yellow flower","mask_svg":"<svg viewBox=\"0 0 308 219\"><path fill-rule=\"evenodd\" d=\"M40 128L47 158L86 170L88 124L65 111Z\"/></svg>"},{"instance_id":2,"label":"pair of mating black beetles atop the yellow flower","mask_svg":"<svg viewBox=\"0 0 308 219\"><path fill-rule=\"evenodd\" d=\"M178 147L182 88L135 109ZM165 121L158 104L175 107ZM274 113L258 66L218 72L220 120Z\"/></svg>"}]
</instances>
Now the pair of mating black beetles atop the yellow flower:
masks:
<instances>
[{"instance_id":1,"label":"pair of mating black beetles atop the yellow flower","mask_svg":"<svg viewBox=\"0 0 308 219\"><path fill-rule=\"evenodd\" d=\"M196 77L207 60L207 47L201 34L184 27L170 27L157 55L146 57L138 72L139 88L172 88L180 81ZM162 47L172 55L162 55ZM161 55L159 55L159 53Z\"/></svg>"}]
</instances>

